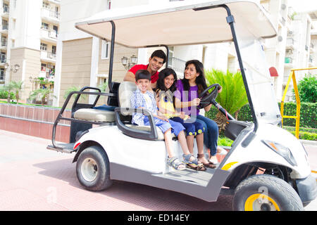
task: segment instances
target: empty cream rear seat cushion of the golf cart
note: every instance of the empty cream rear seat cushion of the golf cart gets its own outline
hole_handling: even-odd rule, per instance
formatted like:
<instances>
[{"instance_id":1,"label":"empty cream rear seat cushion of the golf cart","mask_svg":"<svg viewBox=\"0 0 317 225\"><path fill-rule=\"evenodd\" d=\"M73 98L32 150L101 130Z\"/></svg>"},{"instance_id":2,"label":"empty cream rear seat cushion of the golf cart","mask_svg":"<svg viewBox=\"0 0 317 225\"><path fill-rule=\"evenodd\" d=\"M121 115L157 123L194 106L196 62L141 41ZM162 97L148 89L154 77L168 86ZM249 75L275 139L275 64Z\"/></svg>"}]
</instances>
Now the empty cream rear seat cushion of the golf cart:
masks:
<instances>
[{"instance_id":1,"label":"empty cream rear seat cushion of the golf cart","mask_svg":"<svg viewBox=\"0 0 317 225\"><path fill-rule=\"evenodd\" d=\"M115 122L114 111L98 110L93 108L81 108L74 113L77 120L87 120L91 122Z\"/></svg>"}]
</instances>

